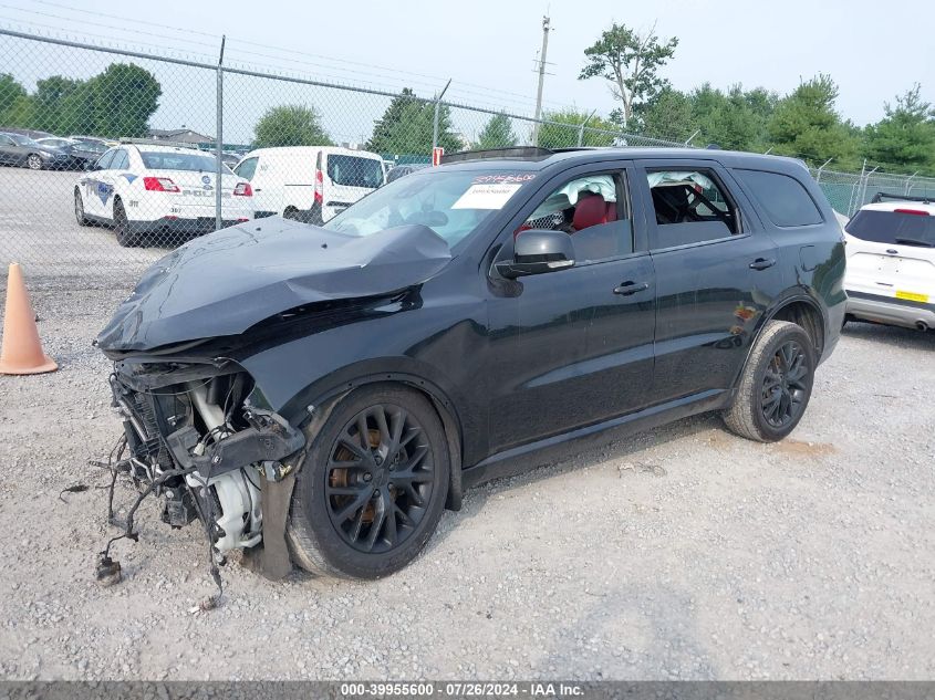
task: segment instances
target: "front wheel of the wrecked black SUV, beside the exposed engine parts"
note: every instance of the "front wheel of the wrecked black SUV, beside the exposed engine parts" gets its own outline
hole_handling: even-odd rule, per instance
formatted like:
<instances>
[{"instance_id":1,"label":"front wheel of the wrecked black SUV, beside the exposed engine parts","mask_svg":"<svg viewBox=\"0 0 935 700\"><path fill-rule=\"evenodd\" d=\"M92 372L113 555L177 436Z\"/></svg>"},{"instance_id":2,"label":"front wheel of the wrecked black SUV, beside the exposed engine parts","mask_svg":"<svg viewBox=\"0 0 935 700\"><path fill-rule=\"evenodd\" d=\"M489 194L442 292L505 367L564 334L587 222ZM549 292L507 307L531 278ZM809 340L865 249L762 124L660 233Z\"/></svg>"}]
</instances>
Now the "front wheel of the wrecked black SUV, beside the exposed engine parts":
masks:
<instances>
[{"instance_id":1,"label":"front wheel of the wrecked black SUV, beside the exposed engine parts","mask_svg":"<svg viewBox=\"0 0 935 700\"><path fill-rule=\"evenodd\" d=\"M365 386L307 437L287 525L295 563L318 575L380 578L412 562L435 532L450 476L428 399Z\"/></svg>"}]
</instances>

